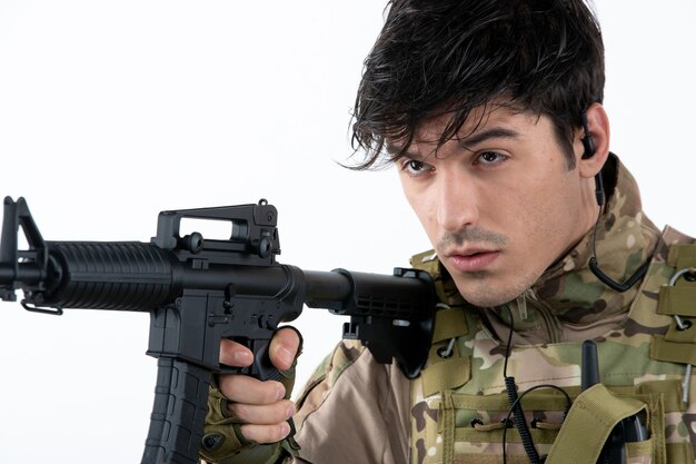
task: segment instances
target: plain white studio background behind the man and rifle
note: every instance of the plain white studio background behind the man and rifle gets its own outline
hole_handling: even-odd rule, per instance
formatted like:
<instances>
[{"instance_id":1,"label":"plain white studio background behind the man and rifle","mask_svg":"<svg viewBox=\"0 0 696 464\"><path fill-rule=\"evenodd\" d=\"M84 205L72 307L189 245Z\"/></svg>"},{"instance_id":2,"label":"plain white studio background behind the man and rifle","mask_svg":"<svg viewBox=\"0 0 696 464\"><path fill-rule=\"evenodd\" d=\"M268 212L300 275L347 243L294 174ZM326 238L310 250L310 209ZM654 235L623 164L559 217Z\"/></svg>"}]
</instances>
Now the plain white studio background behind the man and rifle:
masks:
<instances>
[{"instance_id":1,"label":"plain white studio background behind the man and rifle","mask_svg":"<svg viewBox=\"0 0 696 464\"><path fill-rule=\"evenodd\" d=\"M598 6L613 150L658 226L696 234L696 0ZM163 209L279 210L304 269L428 247L395 172L339 167L382 1L0 0L0 195L48 240L139 240ZM302 383L342 319L306 309ZM140 462L149 316L0 304L0 462Z\"/></svg>"}]
</instances>

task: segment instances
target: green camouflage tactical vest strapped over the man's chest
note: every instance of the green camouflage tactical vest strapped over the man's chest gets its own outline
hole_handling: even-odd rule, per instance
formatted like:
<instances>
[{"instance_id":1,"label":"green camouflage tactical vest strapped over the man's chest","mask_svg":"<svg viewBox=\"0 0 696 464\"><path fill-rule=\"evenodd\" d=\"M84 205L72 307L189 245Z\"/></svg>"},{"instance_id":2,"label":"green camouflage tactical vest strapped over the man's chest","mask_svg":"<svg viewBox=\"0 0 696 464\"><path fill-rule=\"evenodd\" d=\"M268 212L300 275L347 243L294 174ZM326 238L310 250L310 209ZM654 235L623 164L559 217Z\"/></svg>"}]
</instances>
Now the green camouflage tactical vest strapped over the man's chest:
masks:
<instances>
[{"instance_id":1,"label":"green camouflage tactical vest strapped over the man's chest","mask_svg":"<svg viewBox=\"0 0 696 464\"><path fill-rule=\"evenodd\" d=\"M414 382L411 463L503 463L504 447L507 463L529 463L509 419L505 344L453 297L456 288L441 278L437 260L421 254L411 264L434 276L440 300L448 303L437 313L428 366ZM511 347L507 373L524 395L529 433L547 464L595 463L614 425L632 414L642 417L649 437L626 443L628 463L694 463L695 267L694 245L670 246L666 263L653 259L624 322L596 339L597 388L580 392L581 343ZM563 392L534 388L543 384Z\"/></svg>"}]
</instances>

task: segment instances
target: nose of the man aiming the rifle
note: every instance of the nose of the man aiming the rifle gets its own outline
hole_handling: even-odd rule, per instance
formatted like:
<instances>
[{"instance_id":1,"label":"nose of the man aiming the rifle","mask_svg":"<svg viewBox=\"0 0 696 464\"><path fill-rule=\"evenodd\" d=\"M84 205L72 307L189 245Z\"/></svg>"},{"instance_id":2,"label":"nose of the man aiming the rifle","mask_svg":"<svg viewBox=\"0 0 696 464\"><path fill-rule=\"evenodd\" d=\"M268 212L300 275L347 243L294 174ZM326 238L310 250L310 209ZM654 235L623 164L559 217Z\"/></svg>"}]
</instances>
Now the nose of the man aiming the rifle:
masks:
<instances>
[{"instance_id":1,"label":"nose of the man aiming the rifle","mask_svg":"<svg viewBox=\"0 0 696 464\"><path fill-rule=\"evenodd\" d=\"M437 221L444 230L458 231L476 225L479 208L477 188L473 179L456 170L440 170L436 188Z\"/></svg>"}]
</instances>

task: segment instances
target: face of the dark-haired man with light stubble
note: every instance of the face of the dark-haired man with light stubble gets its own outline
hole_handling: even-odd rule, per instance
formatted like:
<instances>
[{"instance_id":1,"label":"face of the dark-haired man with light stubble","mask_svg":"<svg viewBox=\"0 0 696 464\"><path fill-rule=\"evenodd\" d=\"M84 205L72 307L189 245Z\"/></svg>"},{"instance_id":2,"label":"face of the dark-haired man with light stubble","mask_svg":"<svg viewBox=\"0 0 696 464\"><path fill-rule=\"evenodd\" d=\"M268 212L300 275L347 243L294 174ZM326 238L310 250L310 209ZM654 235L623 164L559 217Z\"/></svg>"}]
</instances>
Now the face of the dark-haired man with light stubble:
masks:
<instances>
[{"instance_id":1,"label":"face of the dark-haired man with light stubble","mask_svg":"<svg viewBox=\"0 0 696 464\"><path fill-rule=\"evenodd\" d=\"M425 122L397 169L461 295L495 306L571 249L591 229L598 206L591 176L568 168L550 119L507 108L480 116L473 113L437 152L447 119ZM574 148L579 162L579 137Z\"/></svg>"}]
</instances>

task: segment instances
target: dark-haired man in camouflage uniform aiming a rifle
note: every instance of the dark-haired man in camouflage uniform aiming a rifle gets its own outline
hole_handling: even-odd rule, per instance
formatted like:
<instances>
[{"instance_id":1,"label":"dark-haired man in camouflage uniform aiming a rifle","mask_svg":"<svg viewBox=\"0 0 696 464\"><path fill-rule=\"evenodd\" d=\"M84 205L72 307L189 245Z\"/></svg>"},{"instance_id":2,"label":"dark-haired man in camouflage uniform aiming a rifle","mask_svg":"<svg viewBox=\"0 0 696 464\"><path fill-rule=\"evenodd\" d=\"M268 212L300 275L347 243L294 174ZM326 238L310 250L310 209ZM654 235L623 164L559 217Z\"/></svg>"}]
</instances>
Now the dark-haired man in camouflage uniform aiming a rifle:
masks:
<instances>
[{"instance_id":1,"label":"dark-haired man in camouflage uniform aiming a rifle","mask_svg":"<svg viewBox=\"0 0 696 464\"><path fill-rule=\"evenodd\" d=\"M672 250L693 240L640 210L603 93L601 36L581 0L392 1L354 140L358 168L398 169L434 247L412 259L441 302L428 365L408 381L341 343L298 411L290 383L222 376L203 457L693 463L696 339L688 312L658 303L665 284L688 286L670 279L694 266L688 253ZM290 369L298 346L279 330L276 366ZM251 354L225 343L221 362Z\"/></svg>"}]
</instances>

